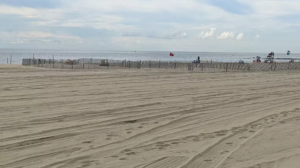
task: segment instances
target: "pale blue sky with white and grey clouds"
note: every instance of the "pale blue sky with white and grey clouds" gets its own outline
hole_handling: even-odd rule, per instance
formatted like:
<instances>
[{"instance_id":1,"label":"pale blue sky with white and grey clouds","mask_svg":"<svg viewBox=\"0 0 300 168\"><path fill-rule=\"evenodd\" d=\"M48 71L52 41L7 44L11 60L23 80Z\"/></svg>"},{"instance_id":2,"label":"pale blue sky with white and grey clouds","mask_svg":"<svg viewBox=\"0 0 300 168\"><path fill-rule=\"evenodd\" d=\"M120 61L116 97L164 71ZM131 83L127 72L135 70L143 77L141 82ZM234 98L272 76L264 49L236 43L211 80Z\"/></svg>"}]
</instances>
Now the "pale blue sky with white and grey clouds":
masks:
<instances>
[{"instance_id":1,"label":"pale blue sky with white and grey clouds","mask_svg":"<svg viewBox=\"0 0 300 168\"><path fill-rule=\"evenodd\" d=\"M300 0L0 0L0 48L300 53Z\"/></svg>"}]
</instances>

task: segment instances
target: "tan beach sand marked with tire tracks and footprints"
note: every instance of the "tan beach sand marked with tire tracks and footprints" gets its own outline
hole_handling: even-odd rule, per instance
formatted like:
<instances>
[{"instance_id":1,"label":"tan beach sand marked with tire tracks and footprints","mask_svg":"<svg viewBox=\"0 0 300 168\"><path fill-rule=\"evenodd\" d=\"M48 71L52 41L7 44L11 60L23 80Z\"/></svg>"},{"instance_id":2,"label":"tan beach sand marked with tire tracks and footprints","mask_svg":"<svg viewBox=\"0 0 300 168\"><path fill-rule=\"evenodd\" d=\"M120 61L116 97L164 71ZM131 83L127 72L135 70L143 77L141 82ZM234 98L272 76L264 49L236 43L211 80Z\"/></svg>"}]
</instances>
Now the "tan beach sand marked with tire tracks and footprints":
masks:
<instances>
[{"instance_id":1,"label":"tan beach sand marked with tire tracks and footprints","mask_svg":"<svg viewBox=\"0 0 300 168\"><path fill-rule=\"evenodd\" d=\"M0 65L0 168L299 167L299 76Z\"/></svg>"}]
</instances>

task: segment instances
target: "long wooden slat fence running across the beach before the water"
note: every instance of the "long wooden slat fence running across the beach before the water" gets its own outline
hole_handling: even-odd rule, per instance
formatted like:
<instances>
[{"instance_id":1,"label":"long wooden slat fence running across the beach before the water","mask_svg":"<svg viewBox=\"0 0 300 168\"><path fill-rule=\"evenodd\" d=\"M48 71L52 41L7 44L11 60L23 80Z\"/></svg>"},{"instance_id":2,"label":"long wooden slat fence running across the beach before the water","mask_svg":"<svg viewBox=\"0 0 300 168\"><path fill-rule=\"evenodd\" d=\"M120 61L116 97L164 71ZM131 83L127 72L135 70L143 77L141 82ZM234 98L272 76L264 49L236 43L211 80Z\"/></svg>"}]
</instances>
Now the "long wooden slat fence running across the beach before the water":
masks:
<instances>
[{"instance_id":1,"label":"long wooden slat fence running across the beach before the water","mask_svg":"<svg viewBox=\"0 0 300 168\"><path fill-rule=\"evenodd\" d=\"M92 59L91 59L92 60ZM22 65L39 66L45 68L74 69L74 70L113 70L113 69L161 69L197 72L246 72L246 71L298 71L300 62L276 62L276 63L188 63L167 61L111 61L98 59L99 62L87 61L78 63L73 60L52 59L23 59Z\"/></svg>"}]
</instances>

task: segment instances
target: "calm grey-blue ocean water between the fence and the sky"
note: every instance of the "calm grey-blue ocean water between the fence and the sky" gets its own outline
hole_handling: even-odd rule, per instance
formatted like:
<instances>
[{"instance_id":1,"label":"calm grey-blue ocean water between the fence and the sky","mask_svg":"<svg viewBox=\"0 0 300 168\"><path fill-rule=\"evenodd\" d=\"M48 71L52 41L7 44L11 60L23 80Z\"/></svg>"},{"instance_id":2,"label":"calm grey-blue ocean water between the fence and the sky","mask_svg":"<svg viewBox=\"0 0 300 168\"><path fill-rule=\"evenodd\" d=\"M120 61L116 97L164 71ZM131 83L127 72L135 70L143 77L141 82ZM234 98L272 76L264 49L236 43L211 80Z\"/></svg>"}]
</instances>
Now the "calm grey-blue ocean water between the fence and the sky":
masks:
<instances>
[{"instance_id":1,"label":"calm grey-blue ocean water between the fence and the sky","mask_svg":"<svg viewBox=\"0 0 300 168\"><path fill-rule=\"evenodd\" d=\"M7 58L10 63L12 55L13 64L21 64L23 58L40 59L80 59L80 58L97 58L113 60L151 60L151 61L187 61L192 62L200 56L201 60L211 60L215 62L238 62L243 60L245 63L253 62L254 58L260 56L266 58L268 53L236 53L236 52L173 52L174 57L169 56L170 52L165 51L64 51L64 50L47 50L47 49L0 49L0 64L6 64ZM287 53L275 53L274 58L287 58ZM300 54L291 53L288 58L300 58ZM261 59L262 61L264 59ZM277 62L286 62L286 60L275 60ZM298 61L298 60L295 60Z\"/></svg>"}]
</instances>

